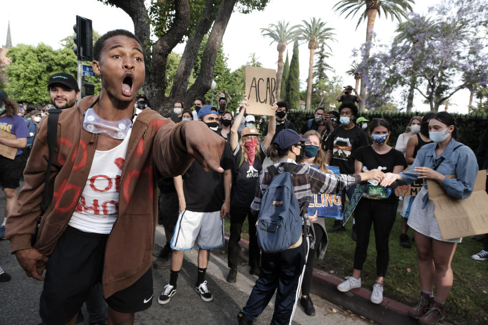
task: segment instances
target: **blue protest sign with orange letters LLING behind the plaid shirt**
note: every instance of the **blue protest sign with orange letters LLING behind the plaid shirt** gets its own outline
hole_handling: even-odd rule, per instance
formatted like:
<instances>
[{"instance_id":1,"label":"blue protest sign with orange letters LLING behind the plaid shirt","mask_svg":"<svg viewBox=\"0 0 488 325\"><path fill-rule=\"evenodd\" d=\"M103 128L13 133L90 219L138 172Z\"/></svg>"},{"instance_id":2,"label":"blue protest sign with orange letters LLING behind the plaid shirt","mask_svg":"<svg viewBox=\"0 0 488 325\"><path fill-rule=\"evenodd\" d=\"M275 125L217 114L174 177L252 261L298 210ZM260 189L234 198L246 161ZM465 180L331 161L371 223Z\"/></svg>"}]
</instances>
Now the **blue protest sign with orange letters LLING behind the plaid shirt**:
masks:
<instances>
[{"instance_id":1,"label":"blue protest sign with orange letters LLING behind the plaid shirt","mask_svg":"<svg viewBox=\"0 0 488 325\"><path fill-rule=\"evenodd\" d=\"M315 168L318 166L312 165ZM340 174L339 167L329 166L329 173ZM309 215L314 215L317 211L318 217L340 218L342 215L341 192L334 194L314 194L309 204Z\"/></svg>"}]
</instances>

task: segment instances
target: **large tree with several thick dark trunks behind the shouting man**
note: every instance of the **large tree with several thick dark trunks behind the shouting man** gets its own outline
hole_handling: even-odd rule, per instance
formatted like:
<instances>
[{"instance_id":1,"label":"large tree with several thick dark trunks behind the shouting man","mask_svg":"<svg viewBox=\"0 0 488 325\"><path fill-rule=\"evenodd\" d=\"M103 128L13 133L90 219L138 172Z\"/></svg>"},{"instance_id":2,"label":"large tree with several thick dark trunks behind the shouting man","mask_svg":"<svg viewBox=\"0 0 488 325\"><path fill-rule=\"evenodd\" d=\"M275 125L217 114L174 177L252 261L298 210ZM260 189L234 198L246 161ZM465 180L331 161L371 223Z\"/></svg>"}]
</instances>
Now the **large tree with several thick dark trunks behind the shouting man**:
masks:
<instances>
[{"instance_id":1,"label":"large tree with several thick dark trunks behind the shouting man","mask_svg":"<svg viewBox=\"0 0 488 325\"><path fill-rule=\"evenodd\" d=\"M222 37L234 10L250 13L263 10L269 0L99 0L124 10L134 22L134 33L143 43L146 80L144 91L153 108L167 112L181 101L190 107L196 96L205 95L214 76ZM146 4L148 8L146 8ZM156 41L151 40L151 33ZM194 63L203 37L208 41L202 54L200 73L190 85ZM186 41L169 95L166 95L168 56Z\"/></svg>"}]
</instances>

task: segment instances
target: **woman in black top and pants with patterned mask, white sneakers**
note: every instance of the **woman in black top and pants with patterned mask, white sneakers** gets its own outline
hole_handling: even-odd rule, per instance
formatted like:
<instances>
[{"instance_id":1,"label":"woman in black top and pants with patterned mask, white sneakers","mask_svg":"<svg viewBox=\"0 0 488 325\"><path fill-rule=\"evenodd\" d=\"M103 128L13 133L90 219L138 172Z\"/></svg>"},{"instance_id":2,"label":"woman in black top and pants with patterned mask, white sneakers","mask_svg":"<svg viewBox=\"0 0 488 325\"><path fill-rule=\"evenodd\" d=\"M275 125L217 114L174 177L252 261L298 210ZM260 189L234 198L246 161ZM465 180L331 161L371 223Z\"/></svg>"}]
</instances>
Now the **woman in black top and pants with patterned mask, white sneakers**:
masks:
<instances>
[{"instance_id":1,"label":"woman in black top and pants with patterned mask, white sneakers","mask_svg":"<svg viewBox=\"0 0 488 325\"><path fill-rule=\"evenodd\" d=\"M358 148L354 153L355 172L378 169L386 173L398 174L405 169L407 163L402 152L391 148L387 142L390 136L390 124L375 118L371 122L371 146ZM346 292L361 286L361 270L366 261L370 241L371 225L375 230L376 243L376 283L373 285L371 302L381 304L383 301L383 279L389 262L389 237L396 217L398 197L391 188L384 189L376 184L369 184L363 197L356 206L357 241L354 252L354 270L352 276L339 284L337 288Z\"/></svg>"}]
</instances>

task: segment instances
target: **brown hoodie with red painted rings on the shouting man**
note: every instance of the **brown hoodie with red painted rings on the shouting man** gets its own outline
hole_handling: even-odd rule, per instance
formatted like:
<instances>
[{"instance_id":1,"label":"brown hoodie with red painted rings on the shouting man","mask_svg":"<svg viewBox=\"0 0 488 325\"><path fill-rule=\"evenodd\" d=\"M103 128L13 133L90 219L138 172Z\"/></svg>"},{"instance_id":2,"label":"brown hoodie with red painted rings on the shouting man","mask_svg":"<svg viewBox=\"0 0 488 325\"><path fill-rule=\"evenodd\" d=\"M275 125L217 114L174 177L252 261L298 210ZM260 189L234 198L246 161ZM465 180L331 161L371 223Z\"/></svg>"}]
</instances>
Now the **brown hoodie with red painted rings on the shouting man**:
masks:
<instances>
[{"instance_id":1,"label":"brown hoodie with red painted rings on the shouting man","mask_svg":"<svg viewBox=\"0 0 488 325\"><path fill-rule=\"evenodd\" d=\"M46 256L50 256L66 230L92 166L98 135L85 131L82 122L84 112L96 99L89 96L79 106L59 115L50 177L54 196L41 219L34 246ZM25 184L17 199L18 209L7 219L12 253L31 248L36 219L41 213L48 159L46 120L39 124L24 171ZM158 179L185 173L193 161L182 141L182 125L148 108L134 122L120 177L118 218L105 251L105 297L133 284L151 266L158 218Z\"/></svg>"}]
</instances>

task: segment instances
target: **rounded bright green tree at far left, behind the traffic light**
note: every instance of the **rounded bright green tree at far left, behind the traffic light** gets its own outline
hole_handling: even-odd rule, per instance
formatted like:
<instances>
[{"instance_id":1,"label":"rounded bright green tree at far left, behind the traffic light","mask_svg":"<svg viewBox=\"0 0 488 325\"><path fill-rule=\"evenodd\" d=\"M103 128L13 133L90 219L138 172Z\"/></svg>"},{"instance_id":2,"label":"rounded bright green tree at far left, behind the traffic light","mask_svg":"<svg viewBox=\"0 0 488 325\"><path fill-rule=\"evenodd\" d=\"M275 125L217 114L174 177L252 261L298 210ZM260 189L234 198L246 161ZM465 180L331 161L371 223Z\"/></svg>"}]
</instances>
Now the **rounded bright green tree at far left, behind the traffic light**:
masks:
<instances>
[{"instance_id":1,"label":"rounded bright green tree at far left, behind the traffic light","mask_svg":"<svg viewBox=\"0 0 488 325\"><path fill-rule=\"evenodd\" d=\"M18 102L49 103L49 76L56 72L76 76L76 55L69 48L53 50L43 43L37 46L19 44L11 47L7 56L11 59L6 71L7 92Z\"/></svg>"}]
</instances>

